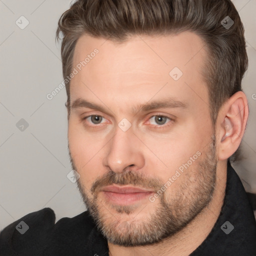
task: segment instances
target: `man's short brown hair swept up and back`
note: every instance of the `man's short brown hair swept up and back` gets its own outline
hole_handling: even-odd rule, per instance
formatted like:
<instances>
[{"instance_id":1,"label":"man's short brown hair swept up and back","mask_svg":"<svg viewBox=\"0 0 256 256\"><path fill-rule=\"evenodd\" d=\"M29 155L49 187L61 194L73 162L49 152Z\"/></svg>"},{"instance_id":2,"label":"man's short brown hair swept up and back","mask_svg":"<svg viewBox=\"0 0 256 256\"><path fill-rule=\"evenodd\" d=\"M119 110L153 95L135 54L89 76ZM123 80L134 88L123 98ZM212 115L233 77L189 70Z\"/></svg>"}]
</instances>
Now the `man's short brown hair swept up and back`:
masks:
<instances>
[{"instance_id":1,"label":"man's short brown hair swept up and back","mask_svg":"<svg viewBox=\"0 0 256 256\"><path fill-rule=\"evenodd\" d=\"M233 25L221 21L229 16ZM124 41L130 35L164 35L192 31L205 42L211 119L221 105L241 89L248 58L244 28L230 0L76 0L58 21L56 39L62 39L63 77L72 70L75 44L82 34ZM69 82L66 84L68 116Z\"/></svg>"}]
</instances>

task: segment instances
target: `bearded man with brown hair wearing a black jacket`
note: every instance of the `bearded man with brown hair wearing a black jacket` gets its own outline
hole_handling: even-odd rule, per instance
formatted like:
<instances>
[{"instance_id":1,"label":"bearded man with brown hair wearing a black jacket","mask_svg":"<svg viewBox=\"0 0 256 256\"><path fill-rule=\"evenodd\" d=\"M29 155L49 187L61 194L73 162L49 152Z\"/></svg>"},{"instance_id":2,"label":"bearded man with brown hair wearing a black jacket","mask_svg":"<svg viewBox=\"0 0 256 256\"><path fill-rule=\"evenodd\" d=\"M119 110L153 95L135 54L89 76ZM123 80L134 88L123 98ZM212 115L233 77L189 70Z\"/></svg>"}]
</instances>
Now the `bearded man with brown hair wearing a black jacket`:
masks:
<instances>
[{"instance_id":1,"label":"bearded man with brown hair wearing a black jacket","mask_svg":"<svg viewBox=\"0 0 256 256\"><path fill-rule=\"evenodd\" d=\"M60 34L69 155L88 211L55 224L50 208L24 216L1 232L1 255L255 255L230 165L248 117L230 0L77 0Z\"/></svg>"}]
</instances>

